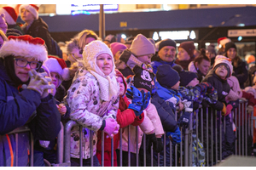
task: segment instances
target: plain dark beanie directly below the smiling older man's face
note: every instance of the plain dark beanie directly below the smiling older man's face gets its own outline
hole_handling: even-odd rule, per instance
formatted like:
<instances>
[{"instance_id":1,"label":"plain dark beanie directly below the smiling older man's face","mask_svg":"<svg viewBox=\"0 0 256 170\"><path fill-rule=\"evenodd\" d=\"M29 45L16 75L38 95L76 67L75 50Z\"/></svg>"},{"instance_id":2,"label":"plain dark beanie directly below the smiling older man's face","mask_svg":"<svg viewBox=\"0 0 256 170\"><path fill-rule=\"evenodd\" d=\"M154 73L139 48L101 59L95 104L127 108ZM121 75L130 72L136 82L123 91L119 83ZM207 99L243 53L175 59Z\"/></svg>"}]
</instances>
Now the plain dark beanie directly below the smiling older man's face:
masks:
<instances>
[{"instance_id":1,"label":"plain dark beanie directly below the smiling older man's face","mask_svg":"<svg viewBox=\"0 0 256 170\"><path fill-rule=\"evenodd\" d=\"M164 88L172 88L179 81L177 71L173 70L170 65L159 65L155 76L157 82Z\"/></svg>"}]
</instances>

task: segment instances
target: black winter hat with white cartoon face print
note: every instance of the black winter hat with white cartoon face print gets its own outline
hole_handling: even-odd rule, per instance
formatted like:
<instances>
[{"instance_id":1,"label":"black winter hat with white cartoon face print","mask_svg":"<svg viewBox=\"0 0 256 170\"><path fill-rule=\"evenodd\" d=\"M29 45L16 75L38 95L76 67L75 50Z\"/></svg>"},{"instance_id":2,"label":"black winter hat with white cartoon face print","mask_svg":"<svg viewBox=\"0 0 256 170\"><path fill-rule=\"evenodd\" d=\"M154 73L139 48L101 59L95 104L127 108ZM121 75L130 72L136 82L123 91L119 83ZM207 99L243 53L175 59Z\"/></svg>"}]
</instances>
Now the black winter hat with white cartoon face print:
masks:
<instances>
[{"instance_id":1,"label":"black winter hat with white cartoon face print","mask_svg":"<svg viewBox=\"0 0 256 170\"><path fill-rule=\"evenodd\" d=\"M132 70L134 72L133 86L135 88L145 88L152 92L152 81L154 81L154 73L144 70L142 67L135 65Z\"/></svg>"}]
</instances>

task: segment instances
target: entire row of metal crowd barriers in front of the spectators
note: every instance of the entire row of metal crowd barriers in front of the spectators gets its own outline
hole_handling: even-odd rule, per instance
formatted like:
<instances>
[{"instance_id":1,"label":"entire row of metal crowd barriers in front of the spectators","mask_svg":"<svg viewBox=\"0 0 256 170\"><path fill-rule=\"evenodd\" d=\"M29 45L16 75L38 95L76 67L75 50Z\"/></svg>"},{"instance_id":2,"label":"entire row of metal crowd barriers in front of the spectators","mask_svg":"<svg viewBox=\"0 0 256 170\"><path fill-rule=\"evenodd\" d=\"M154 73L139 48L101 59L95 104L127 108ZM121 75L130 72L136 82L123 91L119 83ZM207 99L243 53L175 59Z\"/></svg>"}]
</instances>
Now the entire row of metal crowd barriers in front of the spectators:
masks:
<instances>
[{"instance_id":1,"label":"entire row of metal crowd barriers in front of the spectators","mask_svg":"<svg viewBox=\"0 0 256 170\"><path fill-rule=\"evenodd\" d=\"M236 136L232 155L237 156L252 156L253 151L253 121L256 118L251 114L247 114L247 102L240 101L240 105L235 111L230 113L230 122L236 125L233 133ZM177 117L177 113L175 113ZM143 158L139 156L138 147L138 127L136 128L136 167L211 167L220 161L223 161L223 138L226 132L226 121L224 116L221 116L219 111L212 108L199 108L190 115L189 128L183 129L180 127L182 142L180 144L172 145L172 141L166 144L166 135L163 135L162 141L164 150L158 154L154 153L153 146L151 146L150 160L148 165L146 157L146 135L143 134ZM53 167L70 167L71 166L71 130L73 127L79 126L79 135L83 136L82 126L77 122L69 121L63 127L61 123L61 131L57 138L57 163L51 164ZM255 123L256 127L256 123ZM128 128L128 167L131 167L131 129ZM16 153L18 151L18 133L30 132L27 127L20 127L11 132L16 135ZM122 129L120 129L122 132ZM9 134L11 134L9 133ZM92 131L90 131L90 146L92 145ZM122 154L122 133L119 133L119 167L123 167L123 154ZM79 150L82 148L82 139L79 138ZM31 155L30 166L33 166L33 138L31 133ZM193 146L194 144L194 146ZM170 153L166 153L166 149L170 149ZM201 149L201 150L200 150ZM194 150L194 151L193 151ZM113 139L111 140L111 166L113 167ZM201 153L200 153L201 152ZM80 166L83 166L83 150L79 152ZM15 157L15 166L18 166L17 154ZM90 157L93 157L93 149L90 147ZM104 133L102 133L102 167L104 167ZM90 159L90 166L93 167L93 159Z\"/></svg>"}]
</instances>

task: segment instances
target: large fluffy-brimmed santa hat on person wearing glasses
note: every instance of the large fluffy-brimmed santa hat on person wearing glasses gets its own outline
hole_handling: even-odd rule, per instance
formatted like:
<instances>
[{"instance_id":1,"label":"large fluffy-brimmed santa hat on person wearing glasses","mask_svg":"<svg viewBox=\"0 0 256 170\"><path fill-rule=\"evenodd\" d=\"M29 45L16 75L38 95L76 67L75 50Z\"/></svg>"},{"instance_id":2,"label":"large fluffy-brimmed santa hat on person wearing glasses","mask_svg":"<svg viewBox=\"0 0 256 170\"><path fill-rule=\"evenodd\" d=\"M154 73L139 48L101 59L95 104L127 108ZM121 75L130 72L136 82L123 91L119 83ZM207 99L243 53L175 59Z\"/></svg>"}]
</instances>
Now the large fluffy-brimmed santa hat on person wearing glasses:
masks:
<instances>
[{"instance_id":1,"label":"large fluffy-brimmed santa hat on person wearing glasses","mask_svg":"<svg viewBox=\"0 0 256 170\"><path fill-rule=\"evenodd\" d=\"M42 38L24 35L19 37L9 36L8 39L9 41L3 42L3 46L0 49L0 58L14 55L33 58L42 62L48 58Z\"/></svg>"}]
</instances>

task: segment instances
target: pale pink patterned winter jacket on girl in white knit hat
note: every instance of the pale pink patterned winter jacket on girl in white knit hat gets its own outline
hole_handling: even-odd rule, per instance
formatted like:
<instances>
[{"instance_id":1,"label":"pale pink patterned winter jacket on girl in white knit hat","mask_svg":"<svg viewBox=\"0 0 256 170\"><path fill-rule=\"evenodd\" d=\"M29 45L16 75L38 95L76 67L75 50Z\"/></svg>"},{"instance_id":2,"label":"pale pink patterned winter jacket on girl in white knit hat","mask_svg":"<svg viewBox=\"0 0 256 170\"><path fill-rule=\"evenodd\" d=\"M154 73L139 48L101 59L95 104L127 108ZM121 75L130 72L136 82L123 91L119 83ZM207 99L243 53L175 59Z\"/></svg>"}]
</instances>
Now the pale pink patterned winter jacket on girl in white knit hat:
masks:
<instances>
[{"instance_id":1,"label":"pale pink patterned winter jacket on girl in white knit hat","mask_svg":"<svg viewBox=\"0 0 256 170\"><path fill-rule=\"evenodd\" d=\"M110 101L100 99L100 88L96 77L89 71L79 69L73 84L67 90L65 103L71 108L70 118L83 126L83 159L90 158L90 130L93 132L93 156L96 154L97 131L102 121L111 117L116 119L119 108L119 94ZM79 158L79 126L71 131L71 157Z\"/></svg>"}]
</instances>

